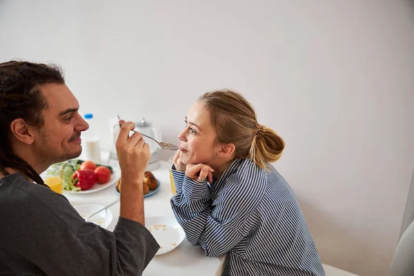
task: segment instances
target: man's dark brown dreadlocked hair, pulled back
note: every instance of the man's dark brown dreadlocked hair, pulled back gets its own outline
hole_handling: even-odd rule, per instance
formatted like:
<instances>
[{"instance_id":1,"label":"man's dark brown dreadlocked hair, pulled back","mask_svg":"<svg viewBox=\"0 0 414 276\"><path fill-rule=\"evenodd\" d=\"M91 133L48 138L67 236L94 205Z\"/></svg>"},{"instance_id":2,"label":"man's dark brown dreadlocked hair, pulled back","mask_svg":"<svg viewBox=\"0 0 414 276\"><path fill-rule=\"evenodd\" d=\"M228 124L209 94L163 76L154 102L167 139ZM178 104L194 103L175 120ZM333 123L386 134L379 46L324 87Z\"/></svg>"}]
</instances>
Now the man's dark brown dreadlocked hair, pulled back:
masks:
<instances>
[{"instance_id":1,"label":"man's dark brown dreadlocked hair, pulled back","mask_svg":"<svg viewBox=\"0 0 414 276\"><path fill-rule=\"evenodd\" d=\"M43 126L42 111L48 108L48 101L40 86L47 83L65 83L61 68L27 61L0 63L0 172L3 175L8 175L5 168L14 168L44 184L32 166L12 152L10 124L21 118L34 128Z\"/></svg>"}]
</instances>

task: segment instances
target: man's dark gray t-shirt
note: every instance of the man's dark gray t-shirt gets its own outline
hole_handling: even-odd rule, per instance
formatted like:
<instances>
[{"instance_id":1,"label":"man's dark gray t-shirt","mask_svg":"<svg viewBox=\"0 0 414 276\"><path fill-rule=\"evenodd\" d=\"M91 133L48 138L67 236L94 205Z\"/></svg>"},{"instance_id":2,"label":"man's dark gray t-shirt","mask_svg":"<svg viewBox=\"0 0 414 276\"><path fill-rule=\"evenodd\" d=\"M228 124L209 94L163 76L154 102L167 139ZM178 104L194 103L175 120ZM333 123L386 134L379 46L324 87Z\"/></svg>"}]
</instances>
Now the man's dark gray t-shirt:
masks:
<instances>
[{"instance_id":1,"label":"man's dark gray t-shirt","mask_svg":"<svg viewBox=\"0 0 414 276\"><path fill-rule=\"evenodd\" d=\"M14 173L0 179L0 275L141 275L159 245L136 221L112 232Z\"/></svg>"}]
</instances>

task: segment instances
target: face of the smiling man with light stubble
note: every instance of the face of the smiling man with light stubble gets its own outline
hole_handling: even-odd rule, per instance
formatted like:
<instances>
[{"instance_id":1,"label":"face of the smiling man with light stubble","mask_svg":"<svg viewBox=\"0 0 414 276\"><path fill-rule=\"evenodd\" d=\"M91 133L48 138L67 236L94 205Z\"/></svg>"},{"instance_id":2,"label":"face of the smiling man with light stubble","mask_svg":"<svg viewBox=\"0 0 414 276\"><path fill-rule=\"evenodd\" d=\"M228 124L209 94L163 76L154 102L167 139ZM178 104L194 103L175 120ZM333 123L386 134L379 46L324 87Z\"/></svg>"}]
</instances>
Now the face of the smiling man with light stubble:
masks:
<instances>
[{"instance_id":1,"label":"face of the smiling man with light stubble","mask_svg":"<svg viewBox=\"0 0 414 276\"><path fill-rule=\"evenodd\" d=\"M65 84L41 86L48 102L43 110L43 126L33 130L37 155L42 162L55 164L81 155L81 132L89 128L79 115L79 103Z\"/></svg>"}]
</instances>

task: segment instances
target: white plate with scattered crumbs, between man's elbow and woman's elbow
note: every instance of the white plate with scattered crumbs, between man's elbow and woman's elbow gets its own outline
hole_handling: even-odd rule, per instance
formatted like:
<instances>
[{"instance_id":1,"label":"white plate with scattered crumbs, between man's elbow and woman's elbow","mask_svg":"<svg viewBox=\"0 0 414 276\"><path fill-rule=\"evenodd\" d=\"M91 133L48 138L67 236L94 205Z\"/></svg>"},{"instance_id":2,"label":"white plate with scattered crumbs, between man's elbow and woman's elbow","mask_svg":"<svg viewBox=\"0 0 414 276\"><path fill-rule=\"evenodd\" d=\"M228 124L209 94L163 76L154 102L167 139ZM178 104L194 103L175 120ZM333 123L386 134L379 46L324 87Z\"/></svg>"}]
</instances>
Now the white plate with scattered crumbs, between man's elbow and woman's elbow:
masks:
<instances>
[{"instance_id":1,"label":"white plate with scattered crumbs, between man's elbow and woman's elbow","mask_svg":"<svg viewBox=\"0 0 414 276\"><path fill-rule=\"evenodd\" d=\"M186 233L174 217L146 217L145 226L160 246L155 255L170 252L186 237Z\"/></svg>"}]
</instances>

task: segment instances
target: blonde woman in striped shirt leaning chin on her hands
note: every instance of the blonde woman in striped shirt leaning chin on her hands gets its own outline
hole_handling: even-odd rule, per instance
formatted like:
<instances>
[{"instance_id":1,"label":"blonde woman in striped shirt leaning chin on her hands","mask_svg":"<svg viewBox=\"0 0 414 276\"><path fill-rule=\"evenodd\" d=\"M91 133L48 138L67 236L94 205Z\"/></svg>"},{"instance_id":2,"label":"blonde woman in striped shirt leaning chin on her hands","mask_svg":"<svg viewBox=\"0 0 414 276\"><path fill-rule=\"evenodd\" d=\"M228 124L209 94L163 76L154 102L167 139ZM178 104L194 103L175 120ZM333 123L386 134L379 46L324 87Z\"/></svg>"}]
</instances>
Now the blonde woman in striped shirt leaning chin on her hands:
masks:
<instances>
[{"instance_id":1,"label":"blonde woman in striped shirt leaning chin on her hands","mask_svg":"<svg viewBox=\"0 0 414 276\"><path fill-rule=\"evenodd\" d=\"M222 275L324 275L293 190L269 163L284 141L242 95L202 95L179 139L172 210L191 244L226 254Z\"/></svg>"}]
</instances>

